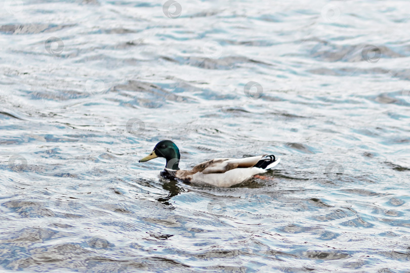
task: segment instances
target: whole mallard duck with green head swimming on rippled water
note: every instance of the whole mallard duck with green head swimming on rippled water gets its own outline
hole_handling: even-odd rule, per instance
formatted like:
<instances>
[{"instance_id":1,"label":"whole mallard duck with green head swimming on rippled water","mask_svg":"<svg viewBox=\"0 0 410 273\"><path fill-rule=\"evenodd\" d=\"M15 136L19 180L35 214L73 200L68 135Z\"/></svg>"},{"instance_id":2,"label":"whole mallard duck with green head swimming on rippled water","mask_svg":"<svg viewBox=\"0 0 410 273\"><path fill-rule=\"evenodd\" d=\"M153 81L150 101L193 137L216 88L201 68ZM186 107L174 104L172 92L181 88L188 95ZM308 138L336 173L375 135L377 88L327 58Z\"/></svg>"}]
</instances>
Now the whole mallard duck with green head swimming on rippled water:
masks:
<instances>
[{"instance_id":1,"label":"whole mallard duck with green head swimming on rippled water","mask_svg":"<svg viewBox=\"0 0 410 273\"><path fill-rule=\"evenodd\" d=\"M244 158L216 158L199 163L192 170L180 170L181 155L178 147L169 140L155 145L154 150L139 162L163 157L167 160L161 176L180 179L186 183L208 184L216 187L230 187L239 184L252 176L266 172L276 166L280 158L274 155L260 155Z\"/></svg>"}]
</instances>

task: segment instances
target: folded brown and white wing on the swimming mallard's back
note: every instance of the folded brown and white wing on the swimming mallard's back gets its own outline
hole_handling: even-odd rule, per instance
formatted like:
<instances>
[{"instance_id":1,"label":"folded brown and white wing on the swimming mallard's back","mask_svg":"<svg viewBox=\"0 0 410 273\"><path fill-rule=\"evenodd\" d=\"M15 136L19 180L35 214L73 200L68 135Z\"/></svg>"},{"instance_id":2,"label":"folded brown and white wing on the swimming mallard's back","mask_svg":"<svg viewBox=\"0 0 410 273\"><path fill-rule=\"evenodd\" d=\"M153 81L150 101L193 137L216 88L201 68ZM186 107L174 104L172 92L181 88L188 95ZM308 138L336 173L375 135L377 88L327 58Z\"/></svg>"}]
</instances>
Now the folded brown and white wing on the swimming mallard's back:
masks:
<instances>
[{"instance_id":1,"label":"folded brown and white wing on the swimming mallard's back","mask_svg":"<svg viewBox=\"0 0 410 273\"><path fill-rule=\"evenodd\" d=\"M271 163L275 162L275 157L272 155L260 155L244 158L216 158L202 162L192 168L191 173L201 172L203 174L209 173L225 173L236 168L252 168L257 167L267 169ZM279 162L278 162L279 163ZM273 167L273 166L272 166Z\"/></svg>"}]
</instances>

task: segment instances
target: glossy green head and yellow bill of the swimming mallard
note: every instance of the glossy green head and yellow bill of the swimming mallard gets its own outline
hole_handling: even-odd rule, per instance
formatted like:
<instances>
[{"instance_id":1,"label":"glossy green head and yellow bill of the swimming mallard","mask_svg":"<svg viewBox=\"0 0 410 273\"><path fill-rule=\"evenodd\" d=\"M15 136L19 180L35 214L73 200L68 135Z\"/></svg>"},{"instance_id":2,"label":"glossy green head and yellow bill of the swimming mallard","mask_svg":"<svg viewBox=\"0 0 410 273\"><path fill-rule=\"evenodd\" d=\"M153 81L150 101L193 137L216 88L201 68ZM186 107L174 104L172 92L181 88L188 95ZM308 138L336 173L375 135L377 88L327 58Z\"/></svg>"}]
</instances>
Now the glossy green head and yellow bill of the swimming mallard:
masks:
<instances>
[{"instance_id":1,"label":"glossy green head and yellow bill of the swimming mallard","mask_svg":"<svg viewBox=\"0 0 410 273\"><path fill-rule=\"evenodd\" d=\"M179 170L178 163L181 155L179 154L179 149L172 141L165 140L158 142L154 150L146 157L141 158L139 162L146 162L153 158L163 157L167 159L168 169Z\"/></svg>"}]
</instances>

